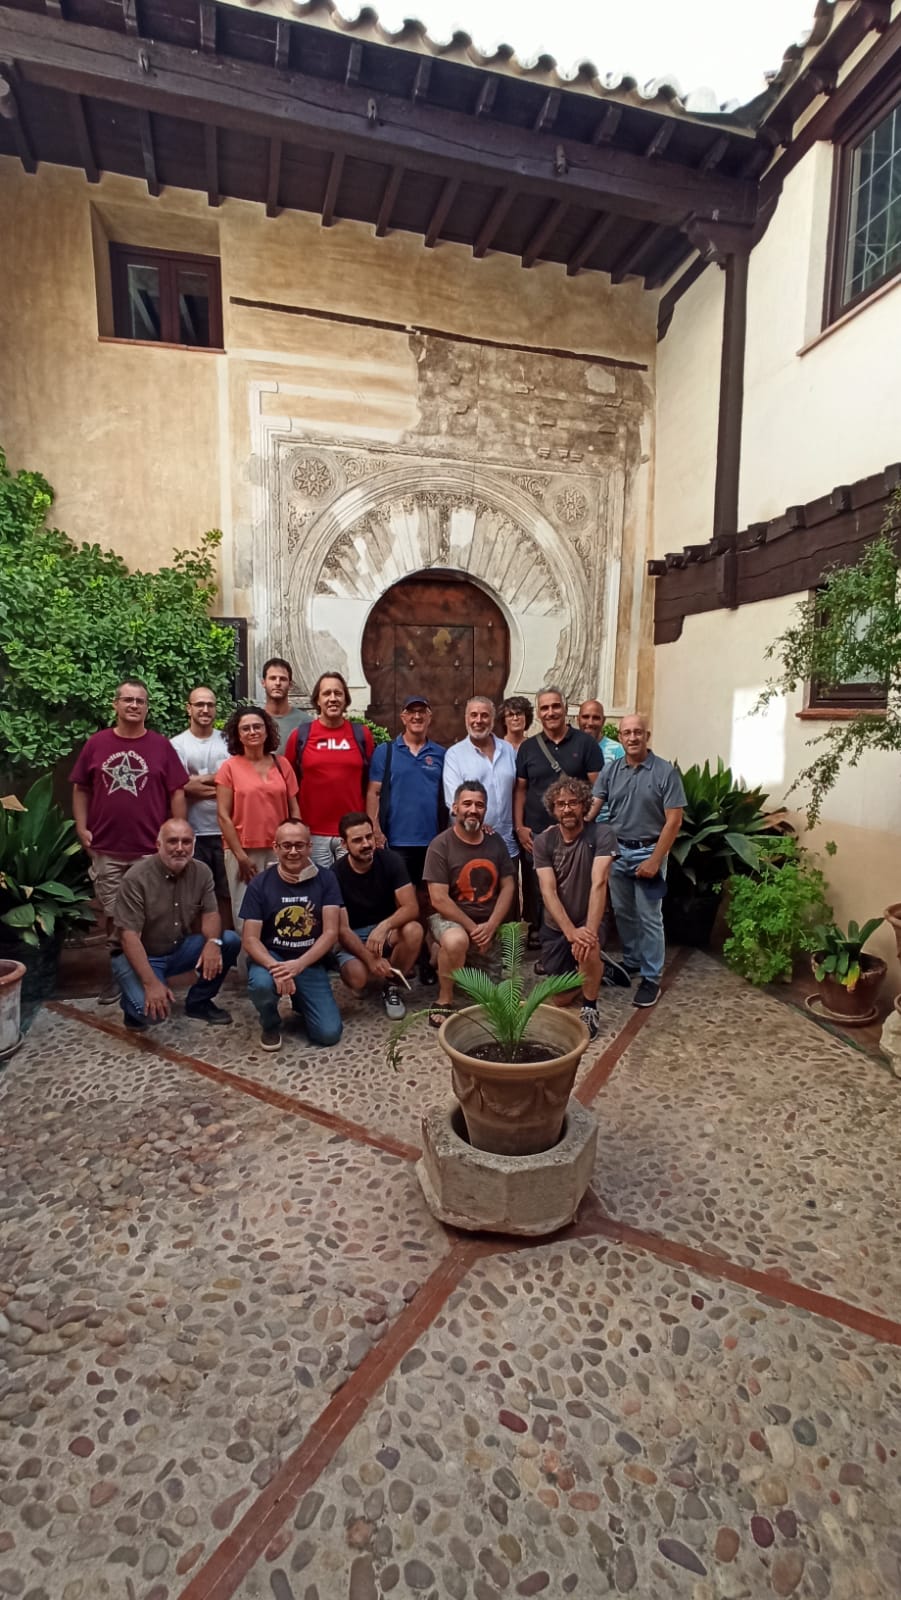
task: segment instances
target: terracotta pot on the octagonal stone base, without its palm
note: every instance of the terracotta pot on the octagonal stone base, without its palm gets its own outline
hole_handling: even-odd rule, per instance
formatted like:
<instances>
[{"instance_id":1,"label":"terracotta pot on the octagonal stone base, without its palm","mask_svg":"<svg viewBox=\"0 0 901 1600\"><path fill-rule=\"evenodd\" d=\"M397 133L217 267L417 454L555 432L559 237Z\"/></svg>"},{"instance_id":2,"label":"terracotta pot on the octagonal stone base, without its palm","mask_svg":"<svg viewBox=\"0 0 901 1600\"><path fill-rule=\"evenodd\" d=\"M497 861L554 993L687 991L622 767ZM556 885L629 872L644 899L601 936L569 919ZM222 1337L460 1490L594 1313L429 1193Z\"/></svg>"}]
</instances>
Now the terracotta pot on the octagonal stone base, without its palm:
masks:
<instances>
[{"instance_id":1,"label":"terracotta pot on the octagonal stone base, without its palm","mask_svg":"<svg viewBox=\"0 0 901 1600\"><path fill-rule=\"evenodd\" d=\"M448 1016L438 1045L450 1056L453 1091L463 1107L469 1142L495 1155L538 1155L557 1144L570 1090L589 1035L578 1011L541 1005L527 1040L554 1050L552 1061L479 1061L469 1054L488 1042L477 1021L480 1006Z\"/></svg>"}]
</instances>

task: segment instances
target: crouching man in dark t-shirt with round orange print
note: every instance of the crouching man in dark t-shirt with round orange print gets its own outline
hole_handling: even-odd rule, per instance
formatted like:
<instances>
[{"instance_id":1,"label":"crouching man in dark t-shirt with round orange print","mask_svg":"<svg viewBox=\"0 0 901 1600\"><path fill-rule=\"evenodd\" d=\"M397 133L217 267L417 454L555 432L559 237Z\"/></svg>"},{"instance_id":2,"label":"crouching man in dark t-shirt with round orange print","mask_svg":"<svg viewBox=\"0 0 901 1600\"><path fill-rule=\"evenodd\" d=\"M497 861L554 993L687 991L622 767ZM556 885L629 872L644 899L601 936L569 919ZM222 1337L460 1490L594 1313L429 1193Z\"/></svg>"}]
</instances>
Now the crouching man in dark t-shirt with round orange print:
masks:
<instances>
[{"instance_id":1,"label":"crouching man in dark t-shirt with round orange print","mask_svg":"<svg viewBox=\"0 0 901 1600\"><path fill-rule=\"evenodd\" d=\"M514 864L499 834L485 832L488 794L477 778L458 786L455 821L432 840L422 880L429 885L429 938L438 968L438 1000L429 1011L440 1027L453 1011L459 966L498 966L495 934L514 902Z\"/></svg>"}]
</instances>

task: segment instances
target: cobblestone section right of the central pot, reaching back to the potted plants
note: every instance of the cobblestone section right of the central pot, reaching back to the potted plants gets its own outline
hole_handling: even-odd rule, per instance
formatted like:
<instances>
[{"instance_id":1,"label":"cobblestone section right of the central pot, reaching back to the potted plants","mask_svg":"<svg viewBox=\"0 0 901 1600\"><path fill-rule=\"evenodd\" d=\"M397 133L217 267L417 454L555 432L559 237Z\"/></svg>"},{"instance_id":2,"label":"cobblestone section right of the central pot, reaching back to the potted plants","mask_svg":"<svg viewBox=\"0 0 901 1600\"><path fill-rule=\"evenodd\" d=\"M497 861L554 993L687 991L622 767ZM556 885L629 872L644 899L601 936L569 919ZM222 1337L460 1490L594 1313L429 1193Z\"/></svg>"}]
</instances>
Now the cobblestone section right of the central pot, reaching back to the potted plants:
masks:
<instances>
[{"instance_id":1,"label":"cobblestone section right of the central pot, reaching back to the potted plants","mask_svg":"<svg viewBox=\"0 0 901 1600\"><path fill-rule=\"evenodd\" d=\"M611 1216L901 1317L885 1064L695 955L594 1109Z\"/></svg>"}]
</instances>

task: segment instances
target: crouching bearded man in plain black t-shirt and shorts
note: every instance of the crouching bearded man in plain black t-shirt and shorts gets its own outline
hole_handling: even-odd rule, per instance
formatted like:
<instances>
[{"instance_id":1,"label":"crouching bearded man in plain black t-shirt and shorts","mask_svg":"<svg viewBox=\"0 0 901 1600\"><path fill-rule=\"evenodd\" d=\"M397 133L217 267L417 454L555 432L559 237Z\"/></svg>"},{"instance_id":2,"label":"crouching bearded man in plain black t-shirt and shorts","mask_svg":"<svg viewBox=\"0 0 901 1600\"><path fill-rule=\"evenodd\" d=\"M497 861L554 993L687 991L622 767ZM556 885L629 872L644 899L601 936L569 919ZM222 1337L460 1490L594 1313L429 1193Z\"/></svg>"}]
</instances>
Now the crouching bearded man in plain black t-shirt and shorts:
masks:
<instances>
[{"instance_id":1,"label":"crouching bearded man in plain black t-shirt and shorts","mask_svg":"<svg viewBox=\"0 0 901 1600\"><path fill-rule=\"evenodd\" d=\"M413 971L422 947L416 890L403 856L376 850L374 830L363 811L341 818L338 832L347 848L334 864L344 899L336 950L342 982L360 992L371 979L382 984L386 1016L406 1014L397 974Z\"/></svg>"}]
</instances>

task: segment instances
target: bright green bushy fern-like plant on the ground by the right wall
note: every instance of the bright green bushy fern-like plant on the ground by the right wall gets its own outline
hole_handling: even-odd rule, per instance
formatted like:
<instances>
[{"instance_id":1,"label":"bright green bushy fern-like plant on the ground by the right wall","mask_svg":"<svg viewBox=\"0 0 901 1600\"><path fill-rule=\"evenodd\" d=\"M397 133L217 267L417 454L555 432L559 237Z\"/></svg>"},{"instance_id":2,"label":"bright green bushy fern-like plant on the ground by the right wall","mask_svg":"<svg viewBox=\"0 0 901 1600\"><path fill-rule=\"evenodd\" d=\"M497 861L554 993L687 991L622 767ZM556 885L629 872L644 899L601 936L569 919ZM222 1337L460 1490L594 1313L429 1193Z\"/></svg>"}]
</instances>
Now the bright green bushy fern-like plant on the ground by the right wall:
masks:
<instances>
[{"instance_id":1,"label":"bright green bushy fern-like plant on the ground by the right wall","mask_svg":"<svg viewBox=\"0 0 901 1600\"><path fill-rule=\"evenodd\" d=\"M816 949L816 928L831 915L819 867L794 838L779 840L757 875L728 882L725 960L752 984L789 979L795 955Z\"/></svg>"}]
</instances>

